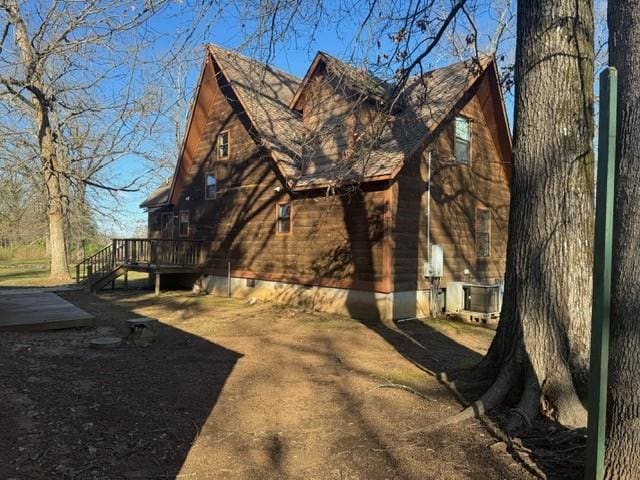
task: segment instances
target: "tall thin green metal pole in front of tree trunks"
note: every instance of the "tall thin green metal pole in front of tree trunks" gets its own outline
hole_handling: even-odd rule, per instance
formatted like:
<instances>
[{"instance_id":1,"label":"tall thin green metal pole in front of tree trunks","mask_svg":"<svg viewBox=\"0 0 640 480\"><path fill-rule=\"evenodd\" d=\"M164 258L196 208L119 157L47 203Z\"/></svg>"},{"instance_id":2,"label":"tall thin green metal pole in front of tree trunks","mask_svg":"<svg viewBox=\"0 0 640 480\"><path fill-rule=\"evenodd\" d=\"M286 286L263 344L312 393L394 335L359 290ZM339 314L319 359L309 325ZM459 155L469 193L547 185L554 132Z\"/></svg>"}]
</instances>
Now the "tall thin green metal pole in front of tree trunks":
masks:
<instances>
[{"instance_id":1,"label":"tall thin green metal pole in front of tree trunks","mask_svg":"<svg viewBox=\"0 0 640 480\"><path fill-rule=\"evenodd\" d=\"M609 67L600 74L586 480L601 480L604 476L617 103L618 72Z\"/></svg>"}]
</instances>

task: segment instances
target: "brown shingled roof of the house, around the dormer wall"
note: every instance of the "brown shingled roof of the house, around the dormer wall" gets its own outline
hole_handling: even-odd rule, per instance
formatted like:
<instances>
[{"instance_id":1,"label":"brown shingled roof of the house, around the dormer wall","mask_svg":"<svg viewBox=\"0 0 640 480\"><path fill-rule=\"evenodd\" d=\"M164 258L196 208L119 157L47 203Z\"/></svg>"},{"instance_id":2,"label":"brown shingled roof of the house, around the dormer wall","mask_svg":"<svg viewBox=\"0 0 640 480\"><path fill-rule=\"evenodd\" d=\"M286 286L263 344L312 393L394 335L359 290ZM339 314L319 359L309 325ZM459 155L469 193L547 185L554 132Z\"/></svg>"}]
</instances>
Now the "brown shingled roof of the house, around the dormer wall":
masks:
<instances>
[{"instance_id":1,"label":"brown shingled roof of the house, around the dormer wall","mask_svg":"<svg viewBox=\"0 0 640 480\"><path fill-rule=\"evenodd\" d=\"M337 162L335 168L304 174L301 170L302 118L295 107L304 86L321 62L350 88L375 100L386 101L393 86L324 52L318 52L305 78L300 81L277 68L217 45L207 45L206 49L247 114L259 145L270 152L287 187L293 191L324 188L351 179L370 182L393 178L405 160L424 147L429 136L485 73L497 78L495 60L490 56L411 77L401 92L400 110L385 116L375 148L348 164L346 172L344 164ZM502 102L501 92L498 91L498 95ZM504 109L501 111L504 113ZM507 125L506 117L504 120L504 125ZM506 134L509 135L508 126ZM181 158L182 155L176 172ZM158 206L162 200L165 204L169 202L175 183L174 175L168 193L160 191L161 187L141 206Z\"/></svg>"}]
</instances>

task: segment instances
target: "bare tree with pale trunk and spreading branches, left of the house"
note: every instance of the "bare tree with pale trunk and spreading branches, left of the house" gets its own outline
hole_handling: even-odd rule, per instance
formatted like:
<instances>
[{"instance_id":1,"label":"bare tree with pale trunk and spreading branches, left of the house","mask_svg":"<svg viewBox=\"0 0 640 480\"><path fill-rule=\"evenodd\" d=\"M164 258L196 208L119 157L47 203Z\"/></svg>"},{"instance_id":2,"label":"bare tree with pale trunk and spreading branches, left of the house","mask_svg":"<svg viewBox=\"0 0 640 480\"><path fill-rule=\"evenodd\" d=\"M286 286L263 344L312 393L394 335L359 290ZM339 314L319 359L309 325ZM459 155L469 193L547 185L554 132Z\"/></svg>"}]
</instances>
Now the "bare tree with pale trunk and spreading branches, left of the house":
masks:
<instances>
[{"instance_id":1,"label":"bare tree with pale trunk and spreading branches, left of the house","mask_svg":"<svg viewBox=\"0 0 640 480\"><path fill-rule=\"evenodd\" d=\"M70 198L86 199L86 188L137 189L133 169L119 179L113 167L154 155L149 138L164 104L152 76L161 70L144 68L157 60L146 27L171 3L0 0L2 147L19 146L37 160L52 277L69 277Z\"/></svg>"}]
</instances>

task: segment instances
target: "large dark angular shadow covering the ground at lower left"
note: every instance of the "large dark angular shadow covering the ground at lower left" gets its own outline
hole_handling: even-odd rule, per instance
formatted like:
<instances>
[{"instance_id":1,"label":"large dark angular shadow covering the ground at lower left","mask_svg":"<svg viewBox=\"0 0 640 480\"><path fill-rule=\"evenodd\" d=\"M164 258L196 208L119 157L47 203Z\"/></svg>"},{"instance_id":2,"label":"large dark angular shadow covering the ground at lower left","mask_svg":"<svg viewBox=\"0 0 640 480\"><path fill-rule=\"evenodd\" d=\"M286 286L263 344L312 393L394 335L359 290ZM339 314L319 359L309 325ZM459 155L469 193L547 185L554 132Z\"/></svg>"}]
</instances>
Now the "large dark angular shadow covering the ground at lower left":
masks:
<instances>
[{"instance_id":1,"label":"large dark angular shadow covering the ground at lower left","mask_svg":"<svg viewBox=\"0 0 640 480\"><path fill-rule=\"evenodd\" d=\"M176 478L242 355L164 324L151 346L90 349L138 315L77 304L95 328L3 334L0 477Z\"/></svg>"}]
</instances>

